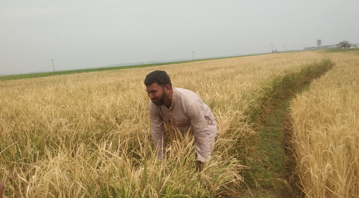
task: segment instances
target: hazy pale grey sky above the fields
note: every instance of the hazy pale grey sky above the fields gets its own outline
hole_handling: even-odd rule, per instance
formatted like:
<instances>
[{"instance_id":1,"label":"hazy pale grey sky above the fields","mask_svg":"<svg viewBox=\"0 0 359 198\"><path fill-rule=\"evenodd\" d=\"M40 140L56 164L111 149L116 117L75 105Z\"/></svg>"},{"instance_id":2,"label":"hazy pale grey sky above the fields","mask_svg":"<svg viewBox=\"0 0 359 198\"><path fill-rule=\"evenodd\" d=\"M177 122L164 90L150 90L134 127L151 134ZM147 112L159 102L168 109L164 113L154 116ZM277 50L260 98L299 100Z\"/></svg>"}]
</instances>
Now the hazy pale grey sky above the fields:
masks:
<instances>
[{"instance_id":1,"label":"hazy pale grey sky above the fields","mask_svg":"<svg viewBox=\"0 0 359 198\"><path fill-rule=\"evenodd\" d=\"M0 0L0 74L359 43L359 0Z\"/></svg>"}]
</instances>

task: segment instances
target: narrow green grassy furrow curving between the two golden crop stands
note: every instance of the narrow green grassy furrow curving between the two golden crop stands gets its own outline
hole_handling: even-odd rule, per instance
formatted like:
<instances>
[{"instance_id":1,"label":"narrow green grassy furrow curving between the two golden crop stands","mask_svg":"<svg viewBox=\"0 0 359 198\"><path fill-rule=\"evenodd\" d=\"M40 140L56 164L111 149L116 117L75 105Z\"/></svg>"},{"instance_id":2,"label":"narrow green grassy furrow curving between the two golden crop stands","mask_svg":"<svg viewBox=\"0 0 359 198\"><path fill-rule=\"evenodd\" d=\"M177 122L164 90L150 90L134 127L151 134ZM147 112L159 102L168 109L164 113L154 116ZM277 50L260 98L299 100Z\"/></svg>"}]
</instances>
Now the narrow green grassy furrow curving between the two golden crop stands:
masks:
<instances>
[{"instance_id":1,"label":"narrow green grassy furrow curving between the two golden crop stands","mask_svg":"<svg viewBox=\"0 0 359 198\"><path fill-rule=\"evenodd\" d=\"M295 167L289 140L291 127L289 106L295 95L307 88L312 80L332 68L325 59L304 66L300 71L278 77L263 86L264 94L252 102L250 115L256 123L255 131L259 144L255 153L247 160L249 169L244 174L245 182L251 187L248 197L296 197L299 190L293 174Z\"/></svg>"}]
</instances>

